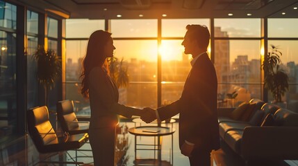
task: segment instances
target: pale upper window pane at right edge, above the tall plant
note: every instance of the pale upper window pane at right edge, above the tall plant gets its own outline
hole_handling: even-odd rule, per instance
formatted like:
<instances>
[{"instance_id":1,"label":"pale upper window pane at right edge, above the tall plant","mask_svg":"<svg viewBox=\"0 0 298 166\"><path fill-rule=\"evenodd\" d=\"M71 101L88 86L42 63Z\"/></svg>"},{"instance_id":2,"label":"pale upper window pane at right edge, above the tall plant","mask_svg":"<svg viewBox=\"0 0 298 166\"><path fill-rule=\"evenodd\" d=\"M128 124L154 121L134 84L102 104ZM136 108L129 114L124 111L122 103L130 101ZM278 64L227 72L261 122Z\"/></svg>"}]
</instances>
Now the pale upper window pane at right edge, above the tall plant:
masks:
<instances>
[{"instance_id":1,"label":"pale upper window pane at right edge, above the tall plant","mask_svg":"<svg viewBox=\"0 0 298 166\"><path fill-rule=\"evenodd\" d=\"M268 19L268 37L298 37L298 19Z\"/></svg>"}]
</instances>

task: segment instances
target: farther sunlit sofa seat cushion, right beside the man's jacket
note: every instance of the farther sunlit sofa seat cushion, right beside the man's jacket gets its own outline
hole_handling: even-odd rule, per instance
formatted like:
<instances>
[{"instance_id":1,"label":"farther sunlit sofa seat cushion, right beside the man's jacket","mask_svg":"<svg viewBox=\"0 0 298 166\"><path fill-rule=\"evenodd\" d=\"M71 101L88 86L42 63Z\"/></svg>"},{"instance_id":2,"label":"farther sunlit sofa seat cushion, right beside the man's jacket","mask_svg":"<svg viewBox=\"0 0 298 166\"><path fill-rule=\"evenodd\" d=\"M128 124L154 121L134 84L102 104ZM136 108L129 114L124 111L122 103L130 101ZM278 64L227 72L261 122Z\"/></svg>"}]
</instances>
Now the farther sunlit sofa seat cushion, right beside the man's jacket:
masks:
<instances>
[{"instance_id":1,"label":"farther sunlit sofa seat cushion, right beside the man's jacket","mask_svg":"<svg viewBox=\"0 0 298 166\"><path fill-rule=\"evenodd\" d=\"M249 124L248 122L221 122L219 125L220 125L220 136L222 138L226 136L227 131L244 130L245 127L251 126L251 124Z\"/></svg>"}]
</instances>

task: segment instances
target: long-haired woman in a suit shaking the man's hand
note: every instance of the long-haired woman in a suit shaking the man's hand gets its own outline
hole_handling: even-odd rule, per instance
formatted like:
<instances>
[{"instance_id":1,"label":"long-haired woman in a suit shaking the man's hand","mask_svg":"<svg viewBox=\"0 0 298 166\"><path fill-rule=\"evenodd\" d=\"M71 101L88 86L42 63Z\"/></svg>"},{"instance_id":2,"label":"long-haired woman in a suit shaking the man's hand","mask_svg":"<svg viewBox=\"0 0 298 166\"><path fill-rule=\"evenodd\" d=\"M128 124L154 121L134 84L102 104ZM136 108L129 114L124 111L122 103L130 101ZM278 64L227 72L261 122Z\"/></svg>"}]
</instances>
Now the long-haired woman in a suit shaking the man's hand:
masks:
<instances>
[{"instance_id":1,"label":"long-haired woman in a suit shaking the man's hand","mask_svg":"<svg viewBox=\"0 0 298 166\"><path fill-rule=\"evenodd\" d=\"M89 128L90 145L94 165L114 165L115 127L117 114L131 118L144 112L118 103L118 90L109 75L107 57L113 57L115 46L110 33L97 30L88 42L81 74L84 98L90 99L91 119Z\"/></svg>"}]
</instances>

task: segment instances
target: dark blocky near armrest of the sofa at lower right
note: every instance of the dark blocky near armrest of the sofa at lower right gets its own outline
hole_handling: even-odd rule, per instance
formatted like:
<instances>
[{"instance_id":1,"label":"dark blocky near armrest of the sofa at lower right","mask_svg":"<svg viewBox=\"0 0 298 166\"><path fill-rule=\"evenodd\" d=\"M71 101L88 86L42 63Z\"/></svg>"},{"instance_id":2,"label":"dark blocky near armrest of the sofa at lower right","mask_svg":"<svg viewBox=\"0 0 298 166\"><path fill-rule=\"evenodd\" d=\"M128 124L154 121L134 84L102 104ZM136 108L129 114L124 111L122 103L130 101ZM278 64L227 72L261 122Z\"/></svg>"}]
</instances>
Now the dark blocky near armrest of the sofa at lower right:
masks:
<instances>
[{"instance_id":1,"label":"dark blocky near armrest of the sofa at lower right","mask_svg":"<svg viewBox=\"0 0 298 166\"><path fill-rule=\"evenodd\" d=\"M246 127L241 155L246 160L298 159L298 127Z\"/></svg>"}]
</instances>

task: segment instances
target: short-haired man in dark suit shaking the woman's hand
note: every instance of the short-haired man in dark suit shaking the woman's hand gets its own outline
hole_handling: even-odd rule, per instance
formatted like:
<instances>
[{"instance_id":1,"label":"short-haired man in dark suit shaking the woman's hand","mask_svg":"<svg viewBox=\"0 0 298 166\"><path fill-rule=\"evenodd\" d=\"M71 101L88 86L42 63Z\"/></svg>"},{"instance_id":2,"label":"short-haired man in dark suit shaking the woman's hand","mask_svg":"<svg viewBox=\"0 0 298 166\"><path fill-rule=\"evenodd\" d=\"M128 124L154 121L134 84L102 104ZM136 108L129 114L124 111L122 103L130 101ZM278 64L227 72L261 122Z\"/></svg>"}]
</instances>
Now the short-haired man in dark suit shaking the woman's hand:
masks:
<instances>
[{"instance_id":1,"label":"short-haired man in dark suit shaking the woman's hand","mask_svg":"<svg viewBox=\"0 0 298 166\"><path fill-rule=\"evenodd\" d=\"M179 100L156 112L148 109L144 122L165 120L177 113L179 147L189 157L191 166L210 165L210 152L220 148L217 122L217 76L207 54L210 33L206 26L188 25L182 45L192 55L192 69Z\"/></svg>"}]
</instances>

